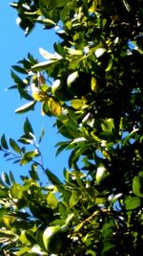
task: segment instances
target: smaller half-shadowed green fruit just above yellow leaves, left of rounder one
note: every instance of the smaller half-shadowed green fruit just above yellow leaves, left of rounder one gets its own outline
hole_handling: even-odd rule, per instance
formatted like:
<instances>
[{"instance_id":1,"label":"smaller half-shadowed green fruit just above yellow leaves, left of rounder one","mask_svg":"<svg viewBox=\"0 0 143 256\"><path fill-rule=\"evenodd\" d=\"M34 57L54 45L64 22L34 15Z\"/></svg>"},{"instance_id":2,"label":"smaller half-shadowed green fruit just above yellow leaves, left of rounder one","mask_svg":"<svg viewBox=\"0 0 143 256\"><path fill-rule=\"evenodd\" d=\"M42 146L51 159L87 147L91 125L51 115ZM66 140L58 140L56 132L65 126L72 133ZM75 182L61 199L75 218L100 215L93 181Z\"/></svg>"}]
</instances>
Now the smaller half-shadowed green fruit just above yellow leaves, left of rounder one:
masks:
<instances>
[{"instance_id":1,"label":"smaller half-shadowed green fruit just above yellow leaves, left of rounder one","mask_svg":"<svg viewBox=\"0 0 143 256\"><path fill-rule=\"evenodd\" d=\"M63 82L60 80L53 81L51 86L51 92L53 96L59 101L65 102L72 100L72 95L66 88L66 85L64 85Z\"/></svg>"}]
</instances>

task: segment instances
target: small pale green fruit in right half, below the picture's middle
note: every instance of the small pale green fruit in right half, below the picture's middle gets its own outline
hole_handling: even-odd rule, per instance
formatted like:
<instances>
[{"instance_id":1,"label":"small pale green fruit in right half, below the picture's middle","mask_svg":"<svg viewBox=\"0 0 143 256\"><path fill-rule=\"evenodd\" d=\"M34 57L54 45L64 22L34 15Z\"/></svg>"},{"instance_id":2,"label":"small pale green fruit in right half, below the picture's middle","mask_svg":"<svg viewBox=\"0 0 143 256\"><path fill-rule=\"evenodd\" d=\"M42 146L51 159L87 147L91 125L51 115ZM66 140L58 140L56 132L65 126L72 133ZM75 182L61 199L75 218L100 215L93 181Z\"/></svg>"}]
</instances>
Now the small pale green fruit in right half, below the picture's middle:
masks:
<instances>
[{"instance_id":1,"label":"small pale green fruit in right half, below the picture's middle","mask_svg":"<svg viewBox=\"0 0 143 256\"><path fill-rule=\"evenodd\" d=\"M104 166L101 166L97 168L95 179L98 185L102 185L110 176L110 172Z\"/></svg>"}]
</instances>

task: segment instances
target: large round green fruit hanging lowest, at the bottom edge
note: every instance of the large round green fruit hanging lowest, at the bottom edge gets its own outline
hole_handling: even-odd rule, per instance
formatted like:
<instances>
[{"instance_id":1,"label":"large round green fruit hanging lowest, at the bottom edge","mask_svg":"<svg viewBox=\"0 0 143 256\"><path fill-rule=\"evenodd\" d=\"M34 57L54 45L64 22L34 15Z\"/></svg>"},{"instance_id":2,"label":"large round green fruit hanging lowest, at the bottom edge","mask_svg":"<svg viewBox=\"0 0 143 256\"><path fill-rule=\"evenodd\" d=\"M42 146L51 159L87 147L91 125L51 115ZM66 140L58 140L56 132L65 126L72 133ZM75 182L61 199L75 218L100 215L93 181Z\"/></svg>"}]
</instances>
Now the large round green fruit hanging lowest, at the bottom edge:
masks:
<instances>
[{"instance_id":1,"label":"large round green fruit hanging lowest, at the bottom edge","mask_svg":"<svg viewBox=\"0 0 143 256\"><path fill-rule=\"evenodd\" d=\"M64 246L64 236L64 231L60 226L49 226L45 229L43 242L50 255L61 252Z\"/></svg>"}]
</instances>

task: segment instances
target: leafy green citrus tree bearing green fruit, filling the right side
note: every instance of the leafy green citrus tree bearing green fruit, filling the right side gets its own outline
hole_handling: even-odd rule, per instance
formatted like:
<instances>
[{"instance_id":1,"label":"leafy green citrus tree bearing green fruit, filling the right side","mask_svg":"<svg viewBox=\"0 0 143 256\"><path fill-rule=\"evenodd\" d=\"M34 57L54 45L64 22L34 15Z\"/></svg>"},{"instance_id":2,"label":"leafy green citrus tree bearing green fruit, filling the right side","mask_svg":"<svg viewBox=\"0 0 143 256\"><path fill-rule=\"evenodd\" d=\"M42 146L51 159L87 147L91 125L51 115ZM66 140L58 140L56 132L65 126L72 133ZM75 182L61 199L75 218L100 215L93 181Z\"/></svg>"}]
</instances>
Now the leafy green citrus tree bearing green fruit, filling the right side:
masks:
<instances>
[{"instance_id":1,"label":"leafy green citrus tree bearing green fruit, filling the right side","mask_svg":"<svg viewBox=\"0 0 143 256\"><path fill-rule=\"evenodd\" d=\"M16 113L54 116L71 152L60 180L44 167L29 118L1 151L31 171L0 180L2 255L140 255L143 244L143 4L141 0L19 0L10 4L30 35L58 28L55 53L40 49L12 66L28 101ZM19 74L19 75L18 75ZM22 75L20 75L22 74ZM23 79L24 76L24 79ZM22 78L21 78L22 77ZM22 145L22 146L21 146ZM29 150L29 146L33 150ZM39 170L49 179L41 184ZM43 239L44 238L44 239Z\"/></svg>"}]
</instances>

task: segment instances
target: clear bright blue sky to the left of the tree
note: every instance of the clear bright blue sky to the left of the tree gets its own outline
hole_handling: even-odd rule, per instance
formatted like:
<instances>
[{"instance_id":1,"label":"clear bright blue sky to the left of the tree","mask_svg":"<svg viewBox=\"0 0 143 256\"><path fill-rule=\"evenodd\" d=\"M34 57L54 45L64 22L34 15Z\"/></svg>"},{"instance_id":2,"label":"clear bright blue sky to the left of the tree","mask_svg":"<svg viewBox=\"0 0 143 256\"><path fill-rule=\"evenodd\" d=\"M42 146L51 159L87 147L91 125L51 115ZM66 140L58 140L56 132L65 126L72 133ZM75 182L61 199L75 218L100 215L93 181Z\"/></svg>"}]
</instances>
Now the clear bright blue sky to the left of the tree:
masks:
<instances>
[{"instance_id":1,"label":"clear bright blue sky to the left of the tree","mask_svg":"<svg viewBox=\"0 0 143 256\"><path fill-rule=\"evenodd\" d=\"M17 139L23 133L23 123L26 117L29 118L36 134L40 133L41 128L45 127L45 139L42 149L44 150L45 167L49 168L56 175L62 175L62 170L67 167L67 156L65 152L55 158L54 145L59 140L56 130L52 128L53 120L41 116L40 106L36 107L36 112L19 115L14 111L26 102L21 101L16 90L6 89L13 85L10 78L10 67L22 58L26 58L31 53L35 58L42 60L39 54L39 47L53 52L52 43L56 39L51 31L43 31L41 26L36 27L31 35L25 37L24 32L16 25L16 12L10 8L9 0L0 1L0 137L3 133L6 138ZM43 59L44 60L44 59ZM28 167L21 168L6 162L3 153L0 152L0 173L12 171L14 175L24 175Z\"/></svg>"}]
</instances>

